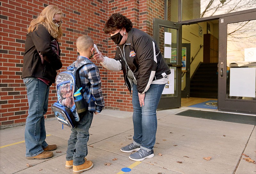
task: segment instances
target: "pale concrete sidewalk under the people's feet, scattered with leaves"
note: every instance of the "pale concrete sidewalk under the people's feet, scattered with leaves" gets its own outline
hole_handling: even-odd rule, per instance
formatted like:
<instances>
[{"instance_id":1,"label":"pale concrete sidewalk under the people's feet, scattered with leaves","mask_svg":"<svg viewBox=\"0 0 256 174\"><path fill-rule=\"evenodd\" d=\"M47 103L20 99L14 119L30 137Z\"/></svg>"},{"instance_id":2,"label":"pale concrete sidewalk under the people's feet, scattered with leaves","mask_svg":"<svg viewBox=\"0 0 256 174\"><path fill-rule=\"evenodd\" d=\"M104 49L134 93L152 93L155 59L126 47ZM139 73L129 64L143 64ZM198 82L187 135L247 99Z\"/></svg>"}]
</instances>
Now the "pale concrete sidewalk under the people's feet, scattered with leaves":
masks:
<instances>
[{"instance_id":1,"label":"pale concrete sidewalk under the people's feet, scattered with leaves","mask_svg":"<svg viewBox=\"0 0 256 174\"><path fill-rule=\"evenodd\" d=\"M132 161L130 153L120 151L132 142L132 112L105 109L94 115L86 156L94 167L84 173L123 174L122 168L129 167L131 174L256 174L256 164L242 156L256 161L254 125L175 115L185 110L157 111L155 156L142 162ZM72 173L65 169L70 129L62 129L56 119L46 120L45 127L47 143L58 146L46 160L25 158L25 126L0 130L1 174ZM208 156L210 161L203 159Z\"/></svg>"}]
</instances>

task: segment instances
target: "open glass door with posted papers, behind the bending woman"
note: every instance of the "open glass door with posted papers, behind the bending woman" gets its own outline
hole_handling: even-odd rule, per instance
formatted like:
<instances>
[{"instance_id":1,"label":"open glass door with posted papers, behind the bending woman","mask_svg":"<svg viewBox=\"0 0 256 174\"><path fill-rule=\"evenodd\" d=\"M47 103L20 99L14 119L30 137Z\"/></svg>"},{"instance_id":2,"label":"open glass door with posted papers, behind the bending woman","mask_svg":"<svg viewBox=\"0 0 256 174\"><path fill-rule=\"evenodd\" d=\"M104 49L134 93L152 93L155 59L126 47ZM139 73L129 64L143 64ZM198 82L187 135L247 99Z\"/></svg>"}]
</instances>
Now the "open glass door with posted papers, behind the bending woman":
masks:
<instances>
[{"instance_id":1,"label":"open glass door with posted papers, behind the bending woman","mask_svg":"<svg viewBox=\"0 0 256 174\"><path fill-rule=\"evenodd\" d=\"M153 36L171 69L157 109L178 108L181 106L181 24L155 18Z\"/></svg>"}]
</instances>

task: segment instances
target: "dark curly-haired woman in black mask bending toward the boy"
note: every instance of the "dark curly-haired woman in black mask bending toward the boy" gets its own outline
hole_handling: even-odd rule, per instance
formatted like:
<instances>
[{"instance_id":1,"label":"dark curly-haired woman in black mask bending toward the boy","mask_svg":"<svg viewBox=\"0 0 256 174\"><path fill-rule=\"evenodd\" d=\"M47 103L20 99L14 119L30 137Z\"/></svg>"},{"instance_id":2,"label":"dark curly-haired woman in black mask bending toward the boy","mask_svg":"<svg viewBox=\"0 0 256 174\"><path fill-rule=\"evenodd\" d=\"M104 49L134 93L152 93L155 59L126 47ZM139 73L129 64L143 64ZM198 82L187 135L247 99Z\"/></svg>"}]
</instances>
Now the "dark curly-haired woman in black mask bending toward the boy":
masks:
<instances>
[{"instance_id":1,"label":"dark curly-haired woman in black mask bending toward the boy","mask_svg":"<svg viewBox=\"0 0 256 174\"><path fill-rule=\"evenodd\" d=\"M112 14L104 32L117 44L115 58L97 53L94 59L106 69L122 70L126 86L130 93L133 91L133 142L121 151L137 151L129 156L134 161L152 158L156 142L156 108L171 71L156 41L147 33L132 28L131 20L122 14Z\"/></svg>"}]
</instances>

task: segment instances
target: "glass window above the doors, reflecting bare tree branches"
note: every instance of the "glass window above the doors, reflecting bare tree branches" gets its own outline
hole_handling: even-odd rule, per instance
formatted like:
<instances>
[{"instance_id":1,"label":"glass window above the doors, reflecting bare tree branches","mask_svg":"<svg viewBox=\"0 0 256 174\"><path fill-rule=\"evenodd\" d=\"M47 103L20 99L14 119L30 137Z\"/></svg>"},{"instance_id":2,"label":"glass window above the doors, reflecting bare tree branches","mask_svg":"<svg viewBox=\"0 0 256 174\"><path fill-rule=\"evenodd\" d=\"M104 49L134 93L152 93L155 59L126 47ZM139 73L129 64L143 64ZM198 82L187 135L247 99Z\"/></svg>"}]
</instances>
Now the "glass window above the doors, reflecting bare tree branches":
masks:
<instances>
[{"instance_id":1,"label":"glass window above the doors, reflecting bare tree branches","mask_svg":"<svg viewBox=\"0 0 256 174\"><path fill-rule=\"evenodd\" d=\"M256 0L182 0L182 21L256 8Z\"/></svg>"}]
</instances>

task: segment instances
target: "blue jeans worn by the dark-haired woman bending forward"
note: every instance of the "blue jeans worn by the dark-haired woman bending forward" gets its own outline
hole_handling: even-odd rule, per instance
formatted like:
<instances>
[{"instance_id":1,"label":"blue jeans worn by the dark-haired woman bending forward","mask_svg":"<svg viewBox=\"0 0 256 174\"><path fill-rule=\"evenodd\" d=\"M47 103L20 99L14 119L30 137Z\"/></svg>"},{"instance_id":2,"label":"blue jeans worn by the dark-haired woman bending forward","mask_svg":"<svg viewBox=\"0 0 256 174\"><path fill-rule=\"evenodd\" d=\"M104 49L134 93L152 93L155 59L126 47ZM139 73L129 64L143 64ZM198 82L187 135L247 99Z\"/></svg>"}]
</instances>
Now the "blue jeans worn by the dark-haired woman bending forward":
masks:
<instances>
[{"instance_id":1,"label":"blue jeans worn by the dark-haired woman bending forward","mask_svg":"<svg viewBox=\"0 0 256 174\"><path fill-rule=\"evenodd\" d=\"M140 107L137 85L133 84L133 143L141 149L152 150L156 142L156 108L165 84L151 84L145 93L144 106Z\"/></svg>"}]
</instances>

